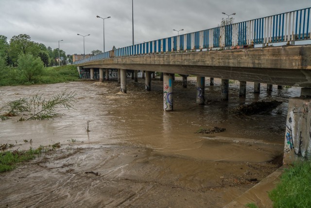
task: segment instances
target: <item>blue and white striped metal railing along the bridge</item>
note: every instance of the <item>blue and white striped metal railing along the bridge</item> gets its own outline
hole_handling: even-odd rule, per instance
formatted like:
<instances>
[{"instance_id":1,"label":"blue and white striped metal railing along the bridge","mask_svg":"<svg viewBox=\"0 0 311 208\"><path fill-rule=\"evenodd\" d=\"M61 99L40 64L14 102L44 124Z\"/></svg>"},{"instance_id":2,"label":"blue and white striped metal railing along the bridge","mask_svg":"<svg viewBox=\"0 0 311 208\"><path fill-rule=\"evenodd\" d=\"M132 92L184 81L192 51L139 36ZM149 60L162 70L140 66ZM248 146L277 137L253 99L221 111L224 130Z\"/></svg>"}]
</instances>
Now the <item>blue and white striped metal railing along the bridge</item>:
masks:
<instances>
[{"instance_id":1,"label":"blue and white striped metal railing along the bridge","mask_svg":"<svg viewBox=\"0 0 311 208\"><path fill-rule=\"evenodd\" d=\"M184 50L209 50L225 47L230 49L236 46L251 44L308 40L311 38L311 31L309 28L311 20L310 9L311 7L184 35L139 43L134 46L119 48L75 61L74 64L138 54L143 55Z\"/></svg>"}]
</instances>

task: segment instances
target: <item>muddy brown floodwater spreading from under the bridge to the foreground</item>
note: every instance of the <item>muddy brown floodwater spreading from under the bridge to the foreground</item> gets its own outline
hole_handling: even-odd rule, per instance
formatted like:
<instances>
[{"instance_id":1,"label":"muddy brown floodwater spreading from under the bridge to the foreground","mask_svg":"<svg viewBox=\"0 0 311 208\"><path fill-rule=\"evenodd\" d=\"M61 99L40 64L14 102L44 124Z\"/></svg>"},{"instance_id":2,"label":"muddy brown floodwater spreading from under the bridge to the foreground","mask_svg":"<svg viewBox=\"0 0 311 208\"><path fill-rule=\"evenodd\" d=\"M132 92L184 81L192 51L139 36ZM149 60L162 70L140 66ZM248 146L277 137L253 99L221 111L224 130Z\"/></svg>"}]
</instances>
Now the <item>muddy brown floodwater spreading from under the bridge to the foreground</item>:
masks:
<instances>
[{"instance_id":1,"label":"muddy brown floodwater spreading from under the bridge to the foreground","mask_svg":"<svg viewBox=\"0 0 311 208\"><path fill-rule=\"evenodd\" d=\"M206 86L207 104L197 105L195 79L182 88L177 77L173 112L162 110L158 78L151 92L144 80L128 79L127 94L118 93L116 81L0 87L0 106L36 93L77 94L75 109L59 109L63 115L54 120L0 121L2 144L62 145L0 173L0 207L223 207L280 166L275 158L283 152L288 99L300 89L267 93L265 87L256 95L247 83L241 99L239 83L232 83L229 102L221 102L215 79L215 86ZM253 116L233 111L270 100L283 103ZM214 126L226 131L195 134Z\"/></svg>"}]
</instances>

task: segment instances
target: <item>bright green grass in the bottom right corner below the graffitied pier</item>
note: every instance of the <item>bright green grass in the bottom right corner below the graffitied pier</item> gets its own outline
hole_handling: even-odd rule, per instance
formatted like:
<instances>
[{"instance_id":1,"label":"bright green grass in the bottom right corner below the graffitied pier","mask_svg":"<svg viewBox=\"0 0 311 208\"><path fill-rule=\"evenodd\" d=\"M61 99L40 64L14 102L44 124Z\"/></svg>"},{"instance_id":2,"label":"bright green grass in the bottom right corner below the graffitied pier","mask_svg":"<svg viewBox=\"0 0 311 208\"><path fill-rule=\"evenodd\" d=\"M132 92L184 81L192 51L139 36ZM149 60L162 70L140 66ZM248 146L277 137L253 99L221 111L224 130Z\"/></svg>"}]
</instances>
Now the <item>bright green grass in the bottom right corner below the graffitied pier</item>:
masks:
<instances>
[{"instance_id":1,"label":"bright green grass in the bottom right corner below the graffitied pier","mask_svg":"<svg viewBox=\"0 0 311 208\"><path fill-rule=\"evenodd\" d=\"M269 197L275 208L311 207L311 161L286 169Z\"/></svg>"}]
</instances>

